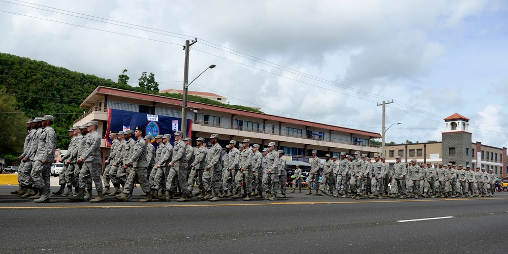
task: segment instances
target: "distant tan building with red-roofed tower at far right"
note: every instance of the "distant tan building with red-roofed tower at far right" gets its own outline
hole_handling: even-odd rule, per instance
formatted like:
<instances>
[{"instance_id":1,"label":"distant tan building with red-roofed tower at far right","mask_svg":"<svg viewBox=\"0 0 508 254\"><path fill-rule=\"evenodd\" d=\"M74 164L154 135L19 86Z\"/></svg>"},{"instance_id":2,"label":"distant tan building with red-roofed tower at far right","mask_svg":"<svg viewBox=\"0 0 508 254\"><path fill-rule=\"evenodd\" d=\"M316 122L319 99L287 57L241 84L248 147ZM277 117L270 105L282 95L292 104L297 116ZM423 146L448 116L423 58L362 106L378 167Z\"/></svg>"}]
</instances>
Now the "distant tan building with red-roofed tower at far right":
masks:
<instances>
[{"instance_id":1,"label":"distant tan building with red-roofed tower at far right","mask_svg":"<svg viewBox=\"0 0 508 254\"><path fill-rule=\"evenodd\" d=\"M452 163L464 168L470 165L492 169L499 178L506 177L506 147L499 148L472 142L468 131L469 119L458 113L444 118L446 130L442 132L442 141L427 143L386 145L387 162L395 163L395 157L401 156L402 161L416 159L417 162Z\"/></svg>"}]
</instances>

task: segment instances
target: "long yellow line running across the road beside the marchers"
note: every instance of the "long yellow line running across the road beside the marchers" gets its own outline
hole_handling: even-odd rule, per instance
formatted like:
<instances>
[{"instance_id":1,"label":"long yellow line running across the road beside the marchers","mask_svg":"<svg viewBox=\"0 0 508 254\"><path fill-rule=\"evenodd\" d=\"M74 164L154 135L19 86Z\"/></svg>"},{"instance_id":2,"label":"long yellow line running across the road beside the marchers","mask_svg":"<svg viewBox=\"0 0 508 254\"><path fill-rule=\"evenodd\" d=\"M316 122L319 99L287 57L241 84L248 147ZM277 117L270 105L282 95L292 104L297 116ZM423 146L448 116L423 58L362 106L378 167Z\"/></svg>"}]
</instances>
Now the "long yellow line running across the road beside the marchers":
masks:
<instances>
[{"instance_id":1,"label":"long yellow line running across the road beside the marchers","mask_svg":"<svg viewBox=\"0 0 508 254\"><path fill-rule=\"evenodd\" d=\"M508 198L485 198L485 199L508 199ZM485 199L471 199L471 200L485 200ZM106 206L17 206L17 207L0 207L0 210L6 209L60 209L60 208L145 208L145 207L212 207L212 206L260 206L260 205L320 205L320 204L365 204L365 203L401 203L401 202L441 202L441 201L460 201L460 200L468 200L468 199L433 199L433 200L386 200L386 201L342 201L342 202L332 202L332 201L308 201L308 202L271 202L271 203L237 203L237 204L178 204L171 205L174 202L167 203L161 202L161 205L106 205ZM115 202L117 204L122 204L123 202ZM134 202L133 202L134 203ZM158 203L158 202L157 202ZM107 204L107 203L104 203Z\"/></svg>"}]
</instances>

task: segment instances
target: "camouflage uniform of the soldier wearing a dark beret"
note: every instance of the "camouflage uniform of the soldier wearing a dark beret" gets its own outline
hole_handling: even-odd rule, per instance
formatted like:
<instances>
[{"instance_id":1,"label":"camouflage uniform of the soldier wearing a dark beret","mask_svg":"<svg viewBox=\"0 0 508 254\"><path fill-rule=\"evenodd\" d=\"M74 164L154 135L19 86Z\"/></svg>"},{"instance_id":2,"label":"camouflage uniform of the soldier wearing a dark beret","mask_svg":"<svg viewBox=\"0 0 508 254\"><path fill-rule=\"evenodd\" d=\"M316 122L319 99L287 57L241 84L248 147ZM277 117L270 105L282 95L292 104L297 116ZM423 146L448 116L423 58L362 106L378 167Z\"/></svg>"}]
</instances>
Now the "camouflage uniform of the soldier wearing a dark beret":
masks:
<instances>
[{"instance_id":1,"label":"camouflage uniform of the soldier wearing a dark beret","mask_svg":"<svg viewBox=\"0 0 508 254\"><path fill-rule=\"evenodd\" d=\"M130 139L129 141L131 140L133 139ZM129 175L127 176L125 185L123 186L123 194L130 195L132 193L135 178L139 180L139 185L141 186L143 192L148 194L150 193L150 184L146 178L148 163L146 161L145 140L142 138L138 139L130 148L130 151L130 156L124 162L124 165L129 164L127 169Z\"/></svg>"}]
</instances>

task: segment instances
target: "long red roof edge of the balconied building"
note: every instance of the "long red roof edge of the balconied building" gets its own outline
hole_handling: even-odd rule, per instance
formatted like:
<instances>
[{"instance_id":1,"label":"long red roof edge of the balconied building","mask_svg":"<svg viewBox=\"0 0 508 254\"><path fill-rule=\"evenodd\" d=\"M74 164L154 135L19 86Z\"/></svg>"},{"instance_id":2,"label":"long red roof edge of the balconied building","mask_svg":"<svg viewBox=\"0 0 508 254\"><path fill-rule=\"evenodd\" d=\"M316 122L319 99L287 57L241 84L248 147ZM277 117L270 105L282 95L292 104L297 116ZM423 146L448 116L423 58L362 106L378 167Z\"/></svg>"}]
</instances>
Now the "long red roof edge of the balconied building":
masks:
<instances>
[{"instance_id":1,"label":"long red roof edge of the balconied building","mask_svg":"<svg viewBox=\"0 0 508 254\"><path fill-rule=\"evenodd\" d=\"M160 102L160 103L180 105L180 106L182 105L182 100L180 100L180 99L174 99L174 98L169 98L169 97L165 97L165 96L157 96L154 94L134 92L134 91L117 89L117 88L104 87L104 86L97 87L88 96L88 98L85 99L85 102L88 101L91 97L93 97L97 93L108 94L111 96L126 97L126 98L136 98L136 99L141 99L141 100L146 100L146 101ZM83 104L85 102L83 102L80 106L83 106ZM360 131L360 130L344 128L344 127L339 127L339 126L334 126L334 125L329 125L329 124L316 123L316 122L298 120L298 119L294 119L294 118L251 112L251 111L246 111L246 110L241 110L241 109L220 107L220 106L204 104L204 103L187 102L187 107L196 108L196 109L208 109L208 110L213 110L213 111L225 112L225 113L233 114L233 115L250 116L250 117L262 118L262 119L266 119L266 120L273 120L273 121L279 121L279 122L301 124L301 125L306 125L306 126L314 127L314 128L322 128L322 129L327 129L327 130L331 130L331 131L338 131L338 132L345 132L345 133L368 136L370 138L381 138L381 135L379 133L374 133L374 132Z\"/></svg>"}]
</instances>

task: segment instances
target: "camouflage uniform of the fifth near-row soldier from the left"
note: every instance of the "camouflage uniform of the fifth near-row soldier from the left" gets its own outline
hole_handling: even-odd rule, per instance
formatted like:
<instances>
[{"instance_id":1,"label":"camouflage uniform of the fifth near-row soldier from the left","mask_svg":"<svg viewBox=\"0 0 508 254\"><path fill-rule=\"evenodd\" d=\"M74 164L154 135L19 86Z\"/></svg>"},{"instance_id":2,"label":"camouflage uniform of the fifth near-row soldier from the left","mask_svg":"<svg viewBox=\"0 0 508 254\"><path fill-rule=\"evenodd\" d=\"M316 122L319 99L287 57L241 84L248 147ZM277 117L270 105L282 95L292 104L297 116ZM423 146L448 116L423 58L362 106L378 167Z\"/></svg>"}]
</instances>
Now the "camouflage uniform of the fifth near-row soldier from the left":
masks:
<instances>
[{"instance_id":1,"label":"camouflage uniform of the fifth near-row soldier from the left","mask_svg":"<svg viewBox=\"0 0 508 254\"><path fill-rule=\"evenodd\" d=\"M223 170L222 147L217 143L210 147L206 155L206 168L203 172L203 187L207 194L218 196L220 192L220 172Z\"/></svg>"}]
</instances>

